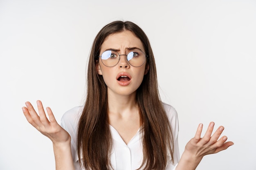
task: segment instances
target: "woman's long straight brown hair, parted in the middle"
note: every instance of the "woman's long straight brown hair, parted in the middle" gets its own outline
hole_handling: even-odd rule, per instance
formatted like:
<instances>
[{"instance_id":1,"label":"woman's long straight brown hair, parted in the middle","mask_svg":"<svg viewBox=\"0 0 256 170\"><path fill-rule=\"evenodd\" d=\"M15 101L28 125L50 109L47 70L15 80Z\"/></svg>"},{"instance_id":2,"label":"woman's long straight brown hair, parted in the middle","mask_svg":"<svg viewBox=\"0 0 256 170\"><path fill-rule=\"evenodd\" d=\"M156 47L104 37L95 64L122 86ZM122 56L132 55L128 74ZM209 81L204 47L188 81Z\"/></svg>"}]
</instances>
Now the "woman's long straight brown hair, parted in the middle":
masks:
<instances>
[{"instance_id":1,"label":"woman's long straight brown hair, parted in the middle","mask_svg":"<svg viewBox=\"0 0 256 170\"><path fill-rule=\"evenodd\" d=\"M129 30L139 38L148 55L149 71L137 89L143 136L144 170L163 170L167 165L168 152L173 160L173 135L166 112L159 97L155 59L144 31L133 22L115 21L104 26L92 44L87 75L87 97L79 120L77 149L79 163L85 169L110 170L112 138L108 124L108 93L102 75L96 71L101 44L113 33Z\"/></svg>"}]
</instances>

